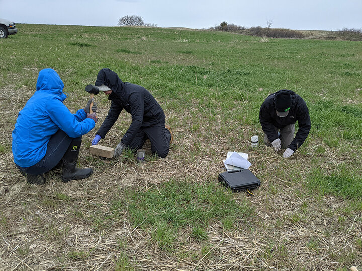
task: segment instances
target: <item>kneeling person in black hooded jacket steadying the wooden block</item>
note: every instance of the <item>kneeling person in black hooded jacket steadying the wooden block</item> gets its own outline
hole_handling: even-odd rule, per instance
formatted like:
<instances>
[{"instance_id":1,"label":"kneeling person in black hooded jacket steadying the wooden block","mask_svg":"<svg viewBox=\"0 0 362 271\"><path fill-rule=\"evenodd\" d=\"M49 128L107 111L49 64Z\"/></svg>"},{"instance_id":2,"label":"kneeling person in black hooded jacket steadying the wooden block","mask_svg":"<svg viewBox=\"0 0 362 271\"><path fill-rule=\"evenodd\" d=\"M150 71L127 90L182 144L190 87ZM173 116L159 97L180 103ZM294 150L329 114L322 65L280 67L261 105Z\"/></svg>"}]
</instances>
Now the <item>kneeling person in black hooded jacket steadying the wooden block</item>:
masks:
<instances>
[{"instance_id":1,"label":"kneeling person in black hooded jacket steadying the wooden block","mask_svg":"<svg viewBox=\"0 0 362 271\"><path fill-rule=\"evenodd\" d=\"M121 111L125 109L132 115L132 123L117 144L114 156L120 156L126 147L135 150L142 148L146 139L150 139L153 153L161 158L167 156L173 140L171 130L165 125L165 115L161 106L147 89L122 82L110 69L101 69L95 86L87 85L85 90L94 94L103 91L109 95L108 99L111 101L108 115L92 140L92 145L105 138Z\"/></svg>"}]
</instances>

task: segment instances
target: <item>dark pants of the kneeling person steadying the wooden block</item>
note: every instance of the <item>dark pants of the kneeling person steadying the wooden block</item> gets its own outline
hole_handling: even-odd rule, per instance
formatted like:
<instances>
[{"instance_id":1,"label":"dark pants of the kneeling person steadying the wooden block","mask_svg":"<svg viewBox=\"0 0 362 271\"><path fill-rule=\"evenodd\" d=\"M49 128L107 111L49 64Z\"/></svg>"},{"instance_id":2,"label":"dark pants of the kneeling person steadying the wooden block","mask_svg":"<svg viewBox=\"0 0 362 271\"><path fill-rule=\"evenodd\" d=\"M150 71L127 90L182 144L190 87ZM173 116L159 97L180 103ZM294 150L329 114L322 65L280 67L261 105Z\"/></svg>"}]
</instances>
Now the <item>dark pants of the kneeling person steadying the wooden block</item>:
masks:
<instances>
[{"instance_id":1,"label":"dark pants of the kneeling person steadying the wooden block","mask_svg":"<svg viewBox=\"0 0 362 271\"><path fill-rule=\"evenodd\" d=\"M165 128L164 121L149 127L141 127L128 147L135 150L141 149L147 139L151 141L152 153L161 158L167 156L171 134Z\"/></svg>"}]
</instances>

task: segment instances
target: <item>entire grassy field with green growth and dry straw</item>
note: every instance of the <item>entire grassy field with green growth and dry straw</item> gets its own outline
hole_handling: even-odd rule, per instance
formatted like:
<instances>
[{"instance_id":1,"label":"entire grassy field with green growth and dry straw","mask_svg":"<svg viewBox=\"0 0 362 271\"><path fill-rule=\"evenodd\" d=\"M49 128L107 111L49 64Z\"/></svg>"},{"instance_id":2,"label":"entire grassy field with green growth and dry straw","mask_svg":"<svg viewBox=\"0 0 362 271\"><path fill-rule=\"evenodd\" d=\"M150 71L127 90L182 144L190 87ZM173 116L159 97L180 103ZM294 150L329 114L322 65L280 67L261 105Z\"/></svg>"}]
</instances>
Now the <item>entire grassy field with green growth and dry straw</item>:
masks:
<instances>
[{"instance_id":1,"label":"entire grassy field with green growth and dry straw","mask_svg":"<svg viewBox=\"0 0 362 271\"><path fill-rule=\"evenodd\" d=\"M268 39L162 28L18 24L0 40L1 270L362 269L361 42ZM264 42L262 42L264 41ZM62 183L29 185L13 163L12 130L38 72L54 68L75 112L101 68L147 88L174 143L147 163L132 153L102 160L88 147L108 113L84 135L80 167ZM290 158L263 146L263 100L291 89L312 129ZM100 142L114 147L125 112ZM251 135L259 135L258 148ZM217 181L227 151L249 154L255 196Z\"/></svg>"}]
</instances>

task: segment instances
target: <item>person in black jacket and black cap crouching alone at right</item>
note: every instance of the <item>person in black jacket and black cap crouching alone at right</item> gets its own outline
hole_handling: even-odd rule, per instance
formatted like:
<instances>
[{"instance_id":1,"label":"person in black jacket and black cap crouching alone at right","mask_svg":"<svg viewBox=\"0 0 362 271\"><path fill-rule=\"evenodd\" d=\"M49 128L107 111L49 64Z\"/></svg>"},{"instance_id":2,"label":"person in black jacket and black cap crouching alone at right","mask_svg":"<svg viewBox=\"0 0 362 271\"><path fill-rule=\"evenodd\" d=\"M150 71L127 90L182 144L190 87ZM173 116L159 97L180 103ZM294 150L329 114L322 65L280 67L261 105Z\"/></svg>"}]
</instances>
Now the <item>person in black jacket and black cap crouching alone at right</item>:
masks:
<instances>
[{"instance_id":1,"label":"person in black jacket and black cap crouching alone at right","mask_svg":"<svg viewBox=\"0 0 362 271\"><path fill-rule=\"evenodd\" d=\"M296 93L282 89L269 95L259 112L261 128L265 133L264 142L279 151L286 148L283 157L290 157L308 137L311 128L308 107ZM294 125L298 131L294 137Z\"/></svg>"}]
</instances>

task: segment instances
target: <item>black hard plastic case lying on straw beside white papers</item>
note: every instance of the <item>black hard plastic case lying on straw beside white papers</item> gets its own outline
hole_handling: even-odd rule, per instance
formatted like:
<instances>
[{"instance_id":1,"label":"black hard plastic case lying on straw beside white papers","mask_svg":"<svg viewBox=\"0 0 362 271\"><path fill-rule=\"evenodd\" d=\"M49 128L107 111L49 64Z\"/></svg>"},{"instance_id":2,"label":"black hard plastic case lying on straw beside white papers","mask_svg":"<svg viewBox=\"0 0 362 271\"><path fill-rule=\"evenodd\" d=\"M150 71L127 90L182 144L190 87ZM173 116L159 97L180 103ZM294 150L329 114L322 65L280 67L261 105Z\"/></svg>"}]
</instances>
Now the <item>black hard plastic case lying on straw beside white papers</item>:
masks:
<instances>
[{"instance_id":1,"label":"black hard plastic case lying on straw beside white papers","mask_svg":"<svg viewBox=\"0 0 362 271\"><path fill-rule=\"evenodd\" d=\"M260 180L248 169L220 173L219 181L234 191L255 189L260 186Z\"/></svg>"}]
</instances>

